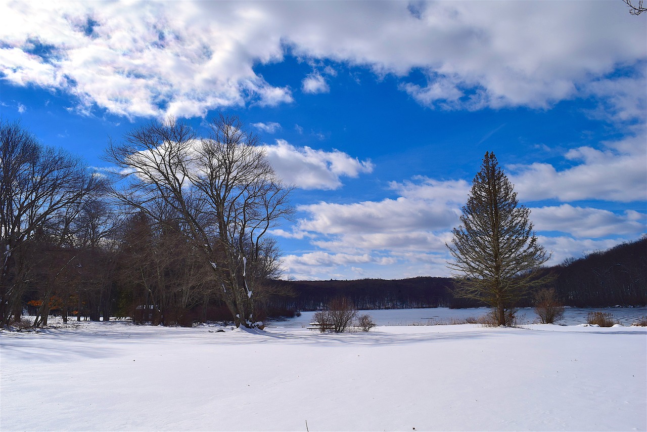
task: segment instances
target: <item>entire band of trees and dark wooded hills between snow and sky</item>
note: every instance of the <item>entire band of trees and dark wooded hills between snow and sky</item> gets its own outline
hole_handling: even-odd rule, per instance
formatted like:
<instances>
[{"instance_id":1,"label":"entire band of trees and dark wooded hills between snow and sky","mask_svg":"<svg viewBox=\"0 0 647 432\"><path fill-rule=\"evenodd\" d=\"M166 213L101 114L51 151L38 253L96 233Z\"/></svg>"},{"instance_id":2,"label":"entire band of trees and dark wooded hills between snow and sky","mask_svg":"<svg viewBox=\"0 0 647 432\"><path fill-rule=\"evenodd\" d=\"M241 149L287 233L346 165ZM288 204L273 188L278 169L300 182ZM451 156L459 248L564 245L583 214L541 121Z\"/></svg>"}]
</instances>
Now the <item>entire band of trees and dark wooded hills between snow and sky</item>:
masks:
<instances>
[{"instance_id":1,"label":"entire band of trees and dark wooded hills between snow and sky","mask_svg":"<svg viewBox=\"0 0 647 432\"><path fill-rule=\"evenodd\" d=\"M106 174L0 122L0 326L27 307L34 325L132 317L254 327L268 314L316 310L334 298L360 309L492 306L499 324L554 288L571 306L642 305L646 238L542 267L529 210L486 153L448 245L454 279L282 281L268 235L290 219L283 185L257 135L220 115L207 137L175 119L109 141Z\"/></svg>"}]
</instances>

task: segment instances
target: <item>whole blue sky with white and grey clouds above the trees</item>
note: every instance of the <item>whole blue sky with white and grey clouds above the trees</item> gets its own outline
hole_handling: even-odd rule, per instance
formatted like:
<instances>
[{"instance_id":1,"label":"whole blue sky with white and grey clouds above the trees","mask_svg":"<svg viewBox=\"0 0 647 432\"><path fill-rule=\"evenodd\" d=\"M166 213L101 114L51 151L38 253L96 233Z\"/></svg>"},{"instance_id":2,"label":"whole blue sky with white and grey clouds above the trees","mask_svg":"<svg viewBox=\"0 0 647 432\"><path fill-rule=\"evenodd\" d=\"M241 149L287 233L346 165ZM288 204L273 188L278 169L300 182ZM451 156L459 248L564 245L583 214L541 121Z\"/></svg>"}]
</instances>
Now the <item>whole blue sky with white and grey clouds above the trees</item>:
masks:
<instances>
[{"instance_id":1,"label":"whole blue sky with white and grey clouds above the trees","mask_svg":"<svg viewBox=\"0 0 647 432\"><path fill-rule=\"evenodd\" d=\"M486 151L553 264L647 231L647 18L613 1L0 3L1 110L100 160L236 114L297 186L285 277L448 275Z\"/></svg>"}]
</instances>

